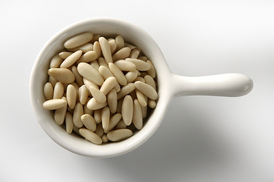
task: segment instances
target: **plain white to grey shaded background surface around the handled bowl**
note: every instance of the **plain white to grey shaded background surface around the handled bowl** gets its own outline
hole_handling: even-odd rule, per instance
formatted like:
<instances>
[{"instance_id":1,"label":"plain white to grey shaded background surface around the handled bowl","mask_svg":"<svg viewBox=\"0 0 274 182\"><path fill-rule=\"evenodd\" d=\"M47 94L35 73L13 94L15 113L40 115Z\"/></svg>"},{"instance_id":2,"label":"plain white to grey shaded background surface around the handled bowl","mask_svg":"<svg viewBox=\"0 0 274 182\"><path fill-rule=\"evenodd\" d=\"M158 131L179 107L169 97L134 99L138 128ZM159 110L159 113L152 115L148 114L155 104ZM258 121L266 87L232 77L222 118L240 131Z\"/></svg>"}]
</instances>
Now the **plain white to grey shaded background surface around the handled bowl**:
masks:
<instances>
[{"instance_id":1,"label":"plain white to grey shaded background surface around the handled bowl","mask_svg":"<svg viewBox=\"0 0 274 182\"><path fill-rule=\"evenodd\" d=\"M184 76L237 72L247 96L176 97L156 133L125 155L93 159L54 143L29 99L33 62L63 27L90 17L139 25ZM0 181L274 181L274 2L2 1Z\"/></svg>"}]
</instances>

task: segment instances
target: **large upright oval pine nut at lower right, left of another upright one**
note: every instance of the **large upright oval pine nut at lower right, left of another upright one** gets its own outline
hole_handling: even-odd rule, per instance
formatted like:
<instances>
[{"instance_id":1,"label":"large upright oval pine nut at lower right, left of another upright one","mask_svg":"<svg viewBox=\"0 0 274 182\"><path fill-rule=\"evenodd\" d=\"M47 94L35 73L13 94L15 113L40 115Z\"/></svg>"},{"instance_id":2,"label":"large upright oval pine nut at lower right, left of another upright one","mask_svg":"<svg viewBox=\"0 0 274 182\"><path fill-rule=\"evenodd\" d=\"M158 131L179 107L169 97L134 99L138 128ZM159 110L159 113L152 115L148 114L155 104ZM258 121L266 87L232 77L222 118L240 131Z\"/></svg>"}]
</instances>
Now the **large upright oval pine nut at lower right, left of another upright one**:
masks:
<instances>
[{"instance_id":1,"label":"large upright oval pine nut at lower right, left of another upright one","mask_svg":"<svg viewBox=\"0 0 274 182\"><path fill-rule=\"evenodd\" d=\"M133 100L131 96L125 96L122 103L122 117L125 124L128 126L132 122L133 116Z\"/></svg>"}]
</instances>

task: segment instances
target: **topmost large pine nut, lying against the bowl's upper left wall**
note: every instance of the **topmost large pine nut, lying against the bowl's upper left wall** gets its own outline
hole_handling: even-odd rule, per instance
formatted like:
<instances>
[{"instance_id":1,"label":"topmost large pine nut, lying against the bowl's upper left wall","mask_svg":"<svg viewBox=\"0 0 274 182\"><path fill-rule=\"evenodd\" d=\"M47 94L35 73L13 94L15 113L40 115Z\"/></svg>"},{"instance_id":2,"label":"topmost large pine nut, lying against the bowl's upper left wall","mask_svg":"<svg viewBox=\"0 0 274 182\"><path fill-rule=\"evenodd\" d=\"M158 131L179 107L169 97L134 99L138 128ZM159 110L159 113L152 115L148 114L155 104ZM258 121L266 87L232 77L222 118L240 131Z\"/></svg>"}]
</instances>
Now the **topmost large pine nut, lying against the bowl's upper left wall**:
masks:
<instances>
[{"instance_id":1,"label":"topmost large pine nut, lying against the bowl's upper left wall","mask_svg":"<svg viewBox=\"0 0 274 182\"><path fill-rule=\"evenodd\" d=\"M90 32L80 33L80 34L75 35L74 37L68 39L64 43L64 47L66 49L75 48L75 47L78 47L79 45L83 45L87 42L90 42L92 40L92 38L93 38L93 34Z\"/></svg>"}]
</instances>

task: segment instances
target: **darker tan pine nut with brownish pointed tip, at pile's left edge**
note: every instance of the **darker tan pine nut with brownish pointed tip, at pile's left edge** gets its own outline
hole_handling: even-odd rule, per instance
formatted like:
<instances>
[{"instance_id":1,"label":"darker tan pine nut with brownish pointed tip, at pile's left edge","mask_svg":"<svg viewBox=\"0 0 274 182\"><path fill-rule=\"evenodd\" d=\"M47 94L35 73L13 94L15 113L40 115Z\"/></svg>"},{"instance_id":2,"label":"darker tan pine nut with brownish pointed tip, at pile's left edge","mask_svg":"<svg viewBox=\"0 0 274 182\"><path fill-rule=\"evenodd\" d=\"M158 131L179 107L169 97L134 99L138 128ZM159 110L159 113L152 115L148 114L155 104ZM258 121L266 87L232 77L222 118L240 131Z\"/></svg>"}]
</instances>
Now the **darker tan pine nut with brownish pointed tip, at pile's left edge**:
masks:
<instances>
[{"instance_id":1,"label":"darker tan pine nut with brownish pointed tip, at pile's left edge","mask_svg":"<svg viewBox=\"0 0 274 182\"><path fill-rule=\"evenodd\" d=\"M47 73L62 83L72 83L74 82L74 74L66 68L51 68Z\"/></svg>"}]
</instances>

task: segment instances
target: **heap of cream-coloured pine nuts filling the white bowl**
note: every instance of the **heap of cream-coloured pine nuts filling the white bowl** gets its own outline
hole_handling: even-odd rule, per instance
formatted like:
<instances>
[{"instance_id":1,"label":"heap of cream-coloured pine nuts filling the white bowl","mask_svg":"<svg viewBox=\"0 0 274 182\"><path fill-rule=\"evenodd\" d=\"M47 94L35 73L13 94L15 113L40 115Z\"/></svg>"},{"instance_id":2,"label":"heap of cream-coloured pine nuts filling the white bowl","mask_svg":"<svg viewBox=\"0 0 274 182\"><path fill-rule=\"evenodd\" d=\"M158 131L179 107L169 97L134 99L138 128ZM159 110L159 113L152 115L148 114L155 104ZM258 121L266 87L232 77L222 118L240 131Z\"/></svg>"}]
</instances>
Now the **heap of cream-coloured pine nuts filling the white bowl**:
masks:
<instances>
[{"instance_id":1,"label":"heap of cream-coloured pine nuts filling the white bowl","mask_svg":"<svg viewBox=\"0 0 274 182\"><path fill-rule=\"evenodd\" d=\"M119 141L142 129L156 106L156 72L138 47L121 35L84 32L68 39L51 59L43 107L58 125L96 144ZM149 107L147 107L149 106Z\"/></svg>"}]
</instances>

